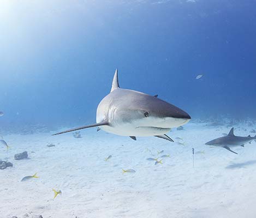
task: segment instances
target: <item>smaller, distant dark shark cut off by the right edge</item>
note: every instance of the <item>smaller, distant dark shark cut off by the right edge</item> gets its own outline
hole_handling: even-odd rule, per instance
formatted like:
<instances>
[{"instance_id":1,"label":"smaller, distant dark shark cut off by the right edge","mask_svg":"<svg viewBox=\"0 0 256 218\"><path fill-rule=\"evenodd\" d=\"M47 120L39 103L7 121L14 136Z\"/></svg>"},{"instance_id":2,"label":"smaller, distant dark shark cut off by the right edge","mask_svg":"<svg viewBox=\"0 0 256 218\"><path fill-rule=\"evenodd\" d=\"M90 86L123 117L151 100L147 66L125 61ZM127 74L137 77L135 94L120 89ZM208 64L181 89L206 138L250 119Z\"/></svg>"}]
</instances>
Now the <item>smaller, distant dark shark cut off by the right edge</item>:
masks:
<instances>
[{"instance_id":1,"label":"smaller, distant dark shark cut off by the right edge","mask_svg":"<svg viewBox=\"0 0 256 218\"><path fill-rule=\"evenodd\" d=\"M243 136L235 136L234 135L234 128L232 128L229 131L229 134L227 136L216 138L215 140L212 140L210 142L206 142L205 144L207 146L216 146L216 147L223 147L230 152L234 152L230 149L230 147L236 147L236 146L242 146L244 147L245 144L251 143L253 140L256 140L256 136L252 137L250 135L243 137Z\"/></svg>"}]
</instances>

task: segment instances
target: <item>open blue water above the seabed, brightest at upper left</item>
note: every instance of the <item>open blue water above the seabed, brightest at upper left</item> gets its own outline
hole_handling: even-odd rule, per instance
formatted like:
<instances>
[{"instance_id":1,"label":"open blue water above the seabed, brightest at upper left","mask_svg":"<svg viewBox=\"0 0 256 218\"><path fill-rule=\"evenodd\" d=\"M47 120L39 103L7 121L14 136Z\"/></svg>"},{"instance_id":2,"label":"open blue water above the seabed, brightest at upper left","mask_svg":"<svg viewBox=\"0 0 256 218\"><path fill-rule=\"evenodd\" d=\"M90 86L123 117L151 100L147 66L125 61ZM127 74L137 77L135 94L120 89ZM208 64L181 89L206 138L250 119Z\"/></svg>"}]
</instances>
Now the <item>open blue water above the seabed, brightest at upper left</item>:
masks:
<instances>
[{"instance_id":1,"label":"open blue water above the seabed, brightest at upper left","mask_svg":"<svg viewBox=\"0 0 256 218\"><path fill-rule=\"evenodd\" d=\"M255 6L4 1L1 122L93 123L116 68L121 87L158 94L192 118L255 117Z\"/></svg>"}]
</instances>

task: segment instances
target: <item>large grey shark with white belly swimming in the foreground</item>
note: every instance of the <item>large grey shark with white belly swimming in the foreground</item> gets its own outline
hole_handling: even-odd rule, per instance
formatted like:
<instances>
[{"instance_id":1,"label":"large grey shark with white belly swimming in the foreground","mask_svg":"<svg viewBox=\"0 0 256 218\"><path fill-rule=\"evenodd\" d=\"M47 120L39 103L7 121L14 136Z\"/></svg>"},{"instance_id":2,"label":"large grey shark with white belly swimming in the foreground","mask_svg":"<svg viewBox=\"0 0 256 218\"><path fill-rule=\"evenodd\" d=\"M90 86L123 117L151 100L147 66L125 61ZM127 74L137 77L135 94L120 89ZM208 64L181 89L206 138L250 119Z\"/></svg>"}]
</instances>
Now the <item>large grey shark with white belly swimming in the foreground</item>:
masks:
<instances>
[{"instance_id":1,"label":"large grey shark with white belly swimming in the foreground","mask_svg":"<svg viewBox=\"0 0 256 218\"><path fill-rule=\"evenodd\" d=\"M100 126L106 132L129 136L133 140L136 140L136 136L156 136L173 142L166 133L171 128L188 123L190 119L186 112L157 98L157 95L120 88L116 69L111 91L98 105L96 124L54 135Z\"/></svg>"}]
</instances>

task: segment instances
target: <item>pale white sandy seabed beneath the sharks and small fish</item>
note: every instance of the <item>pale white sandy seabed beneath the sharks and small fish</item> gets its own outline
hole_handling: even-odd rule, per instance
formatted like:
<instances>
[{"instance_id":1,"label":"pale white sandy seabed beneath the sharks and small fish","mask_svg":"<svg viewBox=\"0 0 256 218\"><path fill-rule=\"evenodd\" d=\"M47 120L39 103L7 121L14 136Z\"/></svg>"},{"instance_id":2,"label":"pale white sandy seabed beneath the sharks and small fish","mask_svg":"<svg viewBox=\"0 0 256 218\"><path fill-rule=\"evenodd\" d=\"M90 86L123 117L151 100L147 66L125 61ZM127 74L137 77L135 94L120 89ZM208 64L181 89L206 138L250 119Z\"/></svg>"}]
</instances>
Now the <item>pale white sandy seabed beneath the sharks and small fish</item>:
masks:
<instances>
[{"instance_id":1,"label":"pale white sandy seabed beneath the sharks and small fish","mask_svg":"<svg viewBox=\"0 0 256 218\"><path fill-rule=\"evenodd\" d=\"M0 159L9 158L14 167L0 171L0 218L31 211L44 218L256 217L255 142L233 148L236 155L204 146L230 128L193 123L184 128L169 136L182 137L186 146L155 137L133 141L96 128L81 131L81 139L72 134L7 135L11 148L1 147ZM235 135L247 136L251 129L236 128ZM195 154L194 169L192 147L205 151ZM25 150L30 159L14 160ZM146 160L157 150L171 156L163 165ZM122 174L122 168L136 172ZM20 181L35 172L40 178ZM62 195L53 200L52 188Z\"/></svg>"}]
</instances>

